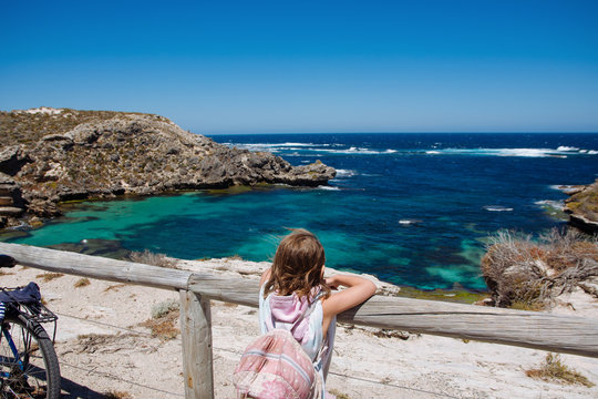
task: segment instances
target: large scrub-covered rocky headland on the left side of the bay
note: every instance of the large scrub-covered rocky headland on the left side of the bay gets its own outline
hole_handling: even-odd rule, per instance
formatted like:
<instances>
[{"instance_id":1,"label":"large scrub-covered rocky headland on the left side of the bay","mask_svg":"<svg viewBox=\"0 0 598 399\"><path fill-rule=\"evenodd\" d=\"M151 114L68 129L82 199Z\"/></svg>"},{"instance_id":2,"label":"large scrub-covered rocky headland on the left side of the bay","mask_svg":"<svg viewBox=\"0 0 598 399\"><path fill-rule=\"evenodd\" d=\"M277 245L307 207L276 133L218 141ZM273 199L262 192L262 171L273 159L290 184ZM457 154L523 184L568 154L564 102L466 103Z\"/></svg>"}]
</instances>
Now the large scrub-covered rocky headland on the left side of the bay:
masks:
<instances>
[{"instance_id":1,"label":"large scrub-covered rocky headland on the left side of the bay","mask_svg":"<svg viewBox=\"0 0 598 399\"><path fill-rule=\"evenodd\" d=\"M229 149L152 114L0 112L0 227L52 217L62 201L280 183L318 186L336 171Z\"/></svg>"}]
</instances>

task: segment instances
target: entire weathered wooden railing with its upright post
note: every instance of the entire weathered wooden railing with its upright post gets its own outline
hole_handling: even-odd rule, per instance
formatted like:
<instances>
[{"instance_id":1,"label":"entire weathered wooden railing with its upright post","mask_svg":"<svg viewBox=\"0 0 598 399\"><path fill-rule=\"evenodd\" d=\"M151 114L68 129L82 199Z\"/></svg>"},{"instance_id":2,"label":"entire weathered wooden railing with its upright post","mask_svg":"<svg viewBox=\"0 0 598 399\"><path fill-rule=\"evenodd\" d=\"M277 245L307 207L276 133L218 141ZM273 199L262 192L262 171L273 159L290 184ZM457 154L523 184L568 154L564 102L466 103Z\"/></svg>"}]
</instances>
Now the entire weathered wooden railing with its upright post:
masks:
<instances>
[{"instance_id":1,"label":"entire weathered wooden railing with its upright post","mask_svg":"<svg viewBox=\"0 0 598 399\"><path fill-rule=\"evenodd\" d=\"M96 256L0 243L19 264L181 293L186 398L213 398L209 300L258 307L258 283ZM598 357L598 319L374 296L344 311L343 323Z\"/></svg>"}]
</instances>

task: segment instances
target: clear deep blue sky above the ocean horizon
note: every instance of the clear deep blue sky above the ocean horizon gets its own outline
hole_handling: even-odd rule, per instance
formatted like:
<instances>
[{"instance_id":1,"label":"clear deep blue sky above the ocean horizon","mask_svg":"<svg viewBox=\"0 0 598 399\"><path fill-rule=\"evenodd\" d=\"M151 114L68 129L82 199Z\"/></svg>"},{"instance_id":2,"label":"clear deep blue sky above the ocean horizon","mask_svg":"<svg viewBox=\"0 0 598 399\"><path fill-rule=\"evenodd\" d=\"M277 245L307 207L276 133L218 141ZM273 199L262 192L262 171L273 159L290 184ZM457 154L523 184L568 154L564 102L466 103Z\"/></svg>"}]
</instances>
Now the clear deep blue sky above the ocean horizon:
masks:
<instances>
[{"instance_id":1,"label":"clear deep blue sky above the ocean horizon","mask_svg":"<svg viewBox=\"0 0 598 399\"><path fill-rule=\"evenodd\" d=\"M4 1L0 110L196 133L598 131L598 1Z\"/></svg>"}]
</instances>

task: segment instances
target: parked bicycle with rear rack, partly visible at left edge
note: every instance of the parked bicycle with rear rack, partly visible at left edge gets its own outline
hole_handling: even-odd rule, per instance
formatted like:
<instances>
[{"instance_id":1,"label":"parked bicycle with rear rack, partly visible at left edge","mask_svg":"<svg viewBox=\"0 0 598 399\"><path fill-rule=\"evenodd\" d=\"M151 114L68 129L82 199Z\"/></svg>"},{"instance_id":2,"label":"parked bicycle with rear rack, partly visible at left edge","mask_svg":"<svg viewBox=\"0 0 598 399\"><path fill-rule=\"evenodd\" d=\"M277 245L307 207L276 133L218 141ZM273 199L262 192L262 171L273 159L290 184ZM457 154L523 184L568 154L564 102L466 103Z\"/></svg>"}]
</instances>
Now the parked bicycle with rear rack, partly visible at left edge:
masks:
<instances>
[{"instance_id":1,"label":"parked bicycle with rear rack, partly visible at left edge","mask_svg":"<svg viewBox=\"0 0 598 399\"><path fill-rule=\"evenodd\" d=\"M0 255L0 267L13 267L12 257ZM2 306L3 305L3 306ZM0 398L60 398L60 366L54 351L56 315L42 303L35 283L0 287ZM53 323L49 337L42 323Z\"/></svg>"}]
</instances>

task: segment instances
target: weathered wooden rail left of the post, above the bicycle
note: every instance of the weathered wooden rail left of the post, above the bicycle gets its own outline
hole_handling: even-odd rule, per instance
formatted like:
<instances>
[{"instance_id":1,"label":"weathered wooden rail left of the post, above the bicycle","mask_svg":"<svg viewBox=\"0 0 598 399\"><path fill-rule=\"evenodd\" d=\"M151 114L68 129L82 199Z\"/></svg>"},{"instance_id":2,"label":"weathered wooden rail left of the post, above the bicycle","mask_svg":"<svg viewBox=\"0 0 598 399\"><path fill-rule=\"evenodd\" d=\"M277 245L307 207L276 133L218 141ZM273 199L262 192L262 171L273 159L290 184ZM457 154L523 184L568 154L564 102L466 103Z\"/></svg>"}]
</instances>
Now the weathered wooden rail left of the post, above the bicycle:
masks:
<instances>
[{"instance_id":1,"label":"weathered wooden rail left of the post, above the bicycle","mask_svg":"<svg viewBox=\"0 0 598 399\"><path fill-rule=\"evenodd\" d=\"M186 289L192 274L173 268L19 244L0 243L0 254L12 256L23 266L43 270L165 289Z\"/></svg>"}]
</instances>

